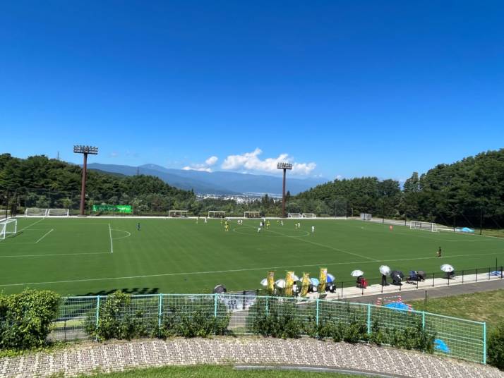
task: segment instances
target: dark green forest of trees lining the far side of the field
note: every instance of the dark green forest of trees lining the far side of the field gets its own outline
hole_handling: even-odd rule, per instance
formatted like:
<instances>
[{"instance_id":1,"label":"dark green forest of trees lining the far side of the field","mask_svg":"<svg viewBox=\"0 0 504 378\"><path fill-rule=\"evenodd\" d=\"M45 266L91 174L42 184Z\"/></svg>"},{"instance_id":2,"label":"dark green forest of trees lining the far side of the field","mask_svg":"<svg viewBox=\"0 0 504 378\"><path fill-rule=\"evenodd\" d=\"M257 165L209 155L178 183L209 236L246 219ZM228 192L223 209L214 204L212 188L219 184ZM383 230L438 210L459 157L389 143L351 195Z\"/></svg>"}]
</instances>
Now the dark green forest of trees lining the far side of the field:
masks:
<instances>
[{"instance_id":1,"label":"dark green forest of trees lining the far side of the field","mask_svg":"<svg viewBox=\"0 0 504 378\"><path fill-rule=\"evenodd\" d=\"M0 154L0 208L64 207L78 209L80 166L44 156L18 159ZM288 181L287 181L288 187ZM261 211L280 216L282 204L268 197L248 203L198 200L152 176L121 176L99 171L88 174L86 205L133 205L136 214L165 214L187 209L191 214L224 210L240 215ZM2 207L3 206L3 207ZM399 181L362 177L330 181L299 195L287 193L287 212L318 216L359 216L418 219L440 224L501 228L504 224L504 149L483 152L453 164Z\"/></svg>"}]
</instances>

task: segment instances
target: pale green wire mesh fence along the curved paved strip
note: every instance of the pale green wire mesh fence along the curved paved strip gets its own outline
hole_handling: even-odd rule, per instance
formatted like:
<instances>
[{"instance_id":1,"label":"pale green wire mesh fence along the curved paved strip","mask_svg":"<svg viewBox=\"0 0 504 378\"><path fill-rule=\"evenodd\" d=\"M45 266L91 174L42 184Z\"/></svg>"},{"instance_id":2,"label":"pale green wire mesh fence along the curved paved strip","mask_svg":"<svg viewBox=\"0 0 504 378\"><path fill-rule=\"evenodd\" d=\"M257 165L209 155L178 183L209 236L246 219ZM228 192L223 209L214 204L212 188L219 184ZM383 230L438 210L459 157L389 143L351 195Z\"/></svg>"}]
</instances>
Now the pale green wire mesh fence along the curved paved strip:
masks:
<instances>
[{"instance_id":1,"label":"pale green wire mesh fence along the curved paved strip","mask_svg":"<svg viewBox=\"0 0 504 378\"><path fill-rule=\"evenodd\" d=\"M100 310L107 296L63 298L59 315L52 324L53 340L89 339L89 329L100 320ZM471 320L414 310L349 303L341 301L282 298L246 294L157 294L132 295L126 308L128 316L142 319L148 331L164 324L175 312L191 315L196 312L213 314L217 319L229 317L228 330L233 334L254 334L256 319L275 313L289 315L308 329L320 322L366 324L368 334L373 329L402 331L412 324L421 324L436 338L434 353L472 362L486 363L486 324Z\"/></svg>"}]
</instances>

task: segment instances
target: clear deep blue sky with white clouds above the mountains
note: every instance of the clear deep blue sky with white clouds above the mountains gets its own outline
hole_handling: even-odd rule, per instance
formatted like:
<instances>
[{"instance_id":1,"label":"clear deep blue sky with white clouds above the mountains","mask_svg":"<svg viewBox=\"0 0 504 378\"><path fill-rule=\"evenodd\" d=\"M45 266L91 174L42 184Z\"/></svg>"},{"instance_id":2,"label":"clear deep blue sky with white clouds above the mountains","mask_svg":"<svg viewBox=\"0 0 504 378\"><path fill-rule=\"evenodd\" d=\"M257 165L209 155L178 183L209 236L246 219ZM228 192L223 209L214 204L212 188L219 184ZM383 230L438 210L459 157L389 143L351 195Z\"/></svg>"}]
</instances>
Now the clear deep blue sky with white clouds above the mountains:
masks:
<instances>
[{"instance_id":1,"label":"clear deep blue sky with white clouds above the mountains","mask_svg":"<svg viewBox=\"0 0 504 378\"><path fill-rule=\"evenodd\" d=\"M502 1L4 2L0 151L404 179L504 147L503 19Z\"/></svg>"}]
</instances>

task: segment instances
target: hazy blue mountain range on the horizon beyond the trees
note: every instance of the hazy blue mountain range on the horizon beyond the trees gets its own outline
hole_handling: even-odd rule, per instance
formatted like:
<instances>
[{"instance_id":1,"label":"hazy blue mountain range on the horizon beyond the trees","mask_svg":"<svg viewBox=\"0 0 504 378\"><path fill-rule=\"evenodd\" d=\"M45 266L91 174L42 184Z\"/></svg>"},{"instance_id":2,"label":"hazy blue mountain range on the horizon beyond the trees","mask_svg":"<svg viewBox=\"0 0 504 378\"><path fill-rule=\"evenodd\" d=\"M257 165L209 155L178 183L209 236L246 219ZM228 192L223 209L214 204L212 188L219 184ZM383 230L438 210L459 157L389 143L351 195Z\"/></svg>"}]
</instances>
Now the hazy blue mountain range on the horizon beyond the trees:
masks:
<instances>
[{"instance_id":1,"label":"hazy blue mountain range on the horizon beyond the trees","mask_svg":"<svg viewBox=\"0 0 504 378\"><path fill-rule=\"evenodd\" d=\"M236 172L205 172L169 169L157 164L126 166L116 164L88 164L88 169L120 173L125 176L145 174L157 176L162 181L179 189L193 190L203 195L270 195L282 194L282 177ZM327 181L324 178L290 178L287 173L287 190L297 194Z\"/></svg>"}]
</instances>

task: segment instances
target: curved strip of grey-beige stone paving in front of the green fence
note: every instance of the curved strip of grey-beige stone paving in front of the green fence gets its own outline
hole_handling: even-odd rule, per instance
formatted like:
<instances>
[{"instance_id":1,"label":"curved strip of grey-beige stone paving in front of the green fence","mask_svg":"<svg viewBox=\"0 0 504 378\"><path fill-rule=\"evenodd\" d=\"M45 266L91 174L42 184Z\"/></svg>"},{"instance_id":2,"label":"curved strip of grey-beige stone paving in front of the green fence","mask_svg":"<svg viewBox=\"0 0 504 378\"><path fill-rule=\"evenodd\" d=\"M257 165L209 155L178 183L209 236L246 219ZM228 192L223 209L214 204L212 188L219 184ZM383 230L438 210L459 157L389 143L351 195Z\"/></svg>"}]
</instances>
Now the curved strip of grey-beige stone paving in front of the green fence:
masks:
<instances>
[{"instance_id":1,"label":"curved strip of grey-beige stone paving in front of the green fence","mask_svg":"<svg viewBox=\"0 0 504 378\"><path fill-rule=\"evenodd\" d=\"M304 365L381 372L400 377L493 378L493 367L392 348L314 339L169 339L87 343L52 353L0 358L0 377L67 377L96 370L195 364Z\"/></svg>"}]
</instances>

